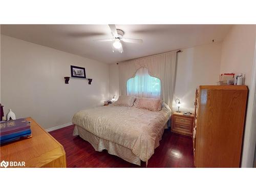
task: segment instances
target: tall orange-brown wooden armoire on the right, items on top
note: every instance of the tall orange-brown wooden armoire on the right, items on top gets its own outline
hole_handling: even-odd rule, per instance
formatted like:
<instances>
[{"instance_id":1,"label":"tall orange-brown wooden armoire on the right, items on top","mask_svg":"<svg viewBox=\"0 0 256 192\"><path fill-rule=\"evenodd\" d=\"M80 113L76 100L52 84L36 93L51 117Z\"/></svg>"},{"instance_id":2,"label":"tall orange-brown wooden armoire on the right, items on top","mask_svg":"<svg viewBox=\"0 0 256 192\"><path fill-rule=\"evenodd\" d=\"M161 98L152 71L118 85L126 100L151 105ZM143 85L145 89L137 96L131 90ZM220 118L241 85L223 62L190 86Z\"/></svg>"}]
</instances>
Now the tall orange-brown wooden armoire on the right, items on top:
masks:
<instances>
[{"instance_id":1,"label":"tall orange-brown wooden armoire on the right, items on top","mask_svg":"<svg viewBox=\"0 0 256 192\"><path fill-rule=\"evenodd\" d=\"M199 86L196 90L196 167L240 167L246 100L246 86Z\"/></svg>"}]
</instances>

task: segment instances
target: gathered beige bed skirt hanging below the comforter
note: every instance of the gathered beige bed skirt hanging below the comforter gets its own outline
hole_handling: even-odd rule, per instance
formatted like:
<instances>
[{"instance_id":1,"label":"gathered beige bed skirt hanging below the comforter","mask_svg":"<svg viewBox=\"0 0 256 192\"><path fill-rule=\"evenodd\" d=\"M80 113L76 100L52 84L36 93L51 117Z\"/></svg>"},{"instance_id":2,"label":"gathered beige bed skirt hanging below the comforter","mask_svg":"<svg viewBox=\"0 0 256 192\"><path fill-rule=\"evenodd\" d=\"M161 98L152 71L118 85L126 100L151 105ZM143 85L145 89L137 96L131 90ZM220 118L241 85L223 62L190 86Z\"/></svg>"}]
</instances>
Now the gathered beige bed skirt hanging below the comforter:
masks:
<instances>
[{"instance_id":1,"label":"gathered beige bed skirt hanging below the comforter","mask_svg":"<svg viewBox=\"0 0 256 192\"><path fill-rule=\"evenodd\" d=\"M167 129L167 128L168 128L167 124L165 124L163 129L161 129L161 131L159 132L155 141L155 148L159 146L159 141L162 139L164 129ZM134 153L130 148L127 148L125 146L119 145L112 141L108 141L100 137L97 137L96 135L92 134L86 129L83 129L81 126L75 125L73 136L77 136L77 135L79 135L82 139L91 143L95 151L102 152L102 150L107 150L108 153L111 155L118 156L121 159L128 161L130 163L133 163L139 166L141 165L140 158L134 155ZM146 165L147 165L147 162L148 160L146 160Z\"/></svg>"}]
</instances>

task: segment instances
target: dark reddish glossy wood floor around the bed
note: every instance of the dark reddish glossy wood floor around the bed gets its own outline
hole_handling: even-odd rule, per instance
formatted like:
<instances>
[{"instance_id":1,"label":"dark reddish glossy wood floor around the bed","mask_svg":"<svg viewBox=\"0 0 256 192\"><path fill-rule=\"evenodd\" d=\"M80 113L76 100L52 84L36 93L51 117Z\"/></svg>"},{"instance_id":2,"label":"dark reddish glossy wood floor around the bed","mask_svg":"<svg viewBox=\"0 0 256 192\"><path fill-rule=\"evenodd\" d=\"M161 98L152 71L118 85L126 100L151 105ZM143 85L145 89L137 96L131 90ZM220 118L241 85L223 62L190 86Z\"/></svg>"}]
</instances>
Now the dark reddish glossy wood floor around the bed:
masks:
<instances>
[{"instance_id":1,"label":"dark reddish glossy wood floor around the bed","mask_svg":"<svg viewBox=\"0 0 256 192\"><path fill-rule=\"evenodd\" d=\"M74 125L71 125L50 132L65 148L67 167L140 167L110 155L106 150L95 151L89 142L73 136L73 130ZM142 162L141 167L145 166ZM165 130L147 167L194 167L192 138Z\"/></svg>"}]
</instances>

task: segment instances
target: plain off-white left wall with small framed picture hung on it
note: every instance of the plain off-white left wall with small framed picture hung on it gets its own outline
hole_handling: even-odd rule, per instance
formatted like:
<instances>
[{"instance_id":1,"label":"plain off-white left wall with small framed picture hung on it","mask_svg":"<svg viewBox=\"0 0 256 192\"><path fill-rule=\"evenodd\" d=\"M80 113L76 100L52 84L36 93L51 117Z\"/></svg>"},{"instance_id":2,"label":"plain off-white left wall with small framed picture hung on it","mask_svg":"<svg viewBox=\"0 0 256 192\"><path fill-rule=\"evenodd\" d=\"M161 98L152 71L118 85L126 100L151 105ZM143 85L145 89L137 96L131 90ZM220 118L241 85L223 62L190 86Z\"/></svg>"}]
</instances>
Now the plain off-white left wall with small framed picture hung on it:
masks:
<instances>
[{"instance_id":1,"label":"plain off-white left wall with small framed picture hung on it","mask_svg":"<svg viewBox=\"0 0 256 192\"><path fill-rule=\"evenodd\" d=\"M5 115L31 116L42 127L69 123L75 112L109 99L109 66L52 48L1 35L1 102ZM86 49L86 48L85 48ZM70 65L86 68L88 80L70 78Z\"/></svg>"}]
</instances>

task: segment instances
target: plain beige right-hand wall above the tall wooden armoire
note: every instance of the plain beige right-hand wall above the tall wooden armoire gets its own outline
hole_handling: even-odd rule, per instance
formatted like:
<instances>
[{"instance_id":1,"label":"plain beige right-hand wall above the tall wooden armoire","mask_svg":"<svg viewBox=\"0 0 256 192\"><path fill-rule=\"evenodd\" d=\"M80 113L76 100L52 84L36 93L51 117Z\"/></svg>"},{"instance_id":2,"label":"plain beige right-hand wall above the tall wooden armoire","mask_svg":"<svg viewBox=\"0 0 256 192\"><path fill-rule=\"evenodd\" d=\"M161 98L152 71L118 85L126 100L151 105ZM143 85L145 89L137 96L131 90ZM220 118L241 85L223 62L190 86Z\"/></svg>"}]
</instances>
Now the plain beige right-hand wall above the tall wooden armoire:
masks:
<instances>
[{"instance_id":1,"label":"plain beige right-hand wall above the tall wooden armoire","mask_svg":"<svg viewBox=\"0 0 256 192\"><path fill-rule=\"evenodd\" d=\"M222 44L221 73L243 73L248 87L251 83L254 59L254 27L254 25L233 26Z\"/></svg>"}]
</instances>

